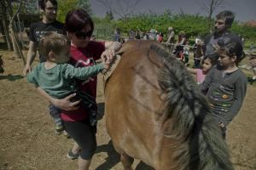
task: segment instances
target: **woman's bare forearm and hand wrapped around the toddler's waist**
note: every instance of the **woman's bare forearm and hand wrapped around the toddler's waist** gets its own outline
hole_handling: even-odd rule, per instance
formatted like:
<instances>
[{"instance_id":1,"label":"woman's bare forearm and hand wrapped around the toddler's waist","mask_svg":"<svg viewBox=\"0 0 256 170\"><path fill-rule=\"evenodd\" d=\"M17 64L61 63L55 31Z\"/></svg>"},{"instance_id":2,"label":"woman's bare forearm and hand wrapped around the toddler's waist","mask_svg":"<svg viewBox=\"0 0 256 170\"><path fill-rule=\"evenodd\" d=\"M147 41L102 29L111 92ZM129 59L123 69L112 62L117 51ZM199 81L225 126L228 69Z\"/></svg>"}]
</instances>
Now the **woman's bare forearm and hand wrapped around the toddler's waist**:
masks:
<instances>
[{"instance_id":1,"label":"woman's bare forearm and hand wrapped around the toddler's waist","mask_svg":"<svg viewBox=\"0 0 256 170\"><path fill-rule=\"evenodd\" d=\"M44 90L40 87L37 88L38 93L44 96L45 99L48 99L50 103L55 105L56 107L60 108L61 110L65 111L74 111L79 109L79 103L81 100L71 102L70 99L72 99L76 94L70 94L64 99L55 99L49 96Z\"/></svg>"}]
</instances>

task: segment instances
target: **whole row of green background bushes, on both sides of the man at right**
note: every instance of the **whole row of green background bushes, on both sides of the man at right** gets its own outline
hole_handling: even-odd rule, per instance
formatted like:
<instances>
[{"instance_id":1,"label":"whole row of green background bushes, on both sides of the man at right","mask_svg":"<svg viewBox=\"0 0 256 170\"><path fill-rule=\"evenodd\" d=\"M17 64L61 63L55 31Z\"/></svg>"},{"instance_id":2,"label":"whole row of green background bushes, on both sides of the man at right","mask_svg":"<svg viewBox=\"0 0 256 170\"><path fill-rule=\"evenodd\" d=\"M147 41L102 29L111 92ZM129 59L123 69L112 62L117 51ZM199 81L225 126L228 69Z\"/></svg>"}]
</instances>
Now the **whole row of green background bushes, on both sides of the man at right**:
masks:
<instances>
[{"instance_id":1,"label":"whole row of green background bushes, on both sides of the man at right","mask_svg":"<svg viewBox=\"0 0 256 170\"><path fill-rule=\"evenodd\" d=\"M198 14L172 14L172 11L166 10L163 14L137 14L123 20L97 19L96 29L97 26L100 26L101 30L104 29L104 26L108 26L108 30L119 27L122 36L126 36L126 33L131 30L149 31L154 28L166 35L168 27L172 26L176 34L179 31L185 31L187 37L204 37L208 33L207 23L207 17ZM213 22L212 26L214 26ZM242 35L246 40L256 41L255 27L244 26L236 21L231 27L231 31Z\"/></svg>"}]
</instances>

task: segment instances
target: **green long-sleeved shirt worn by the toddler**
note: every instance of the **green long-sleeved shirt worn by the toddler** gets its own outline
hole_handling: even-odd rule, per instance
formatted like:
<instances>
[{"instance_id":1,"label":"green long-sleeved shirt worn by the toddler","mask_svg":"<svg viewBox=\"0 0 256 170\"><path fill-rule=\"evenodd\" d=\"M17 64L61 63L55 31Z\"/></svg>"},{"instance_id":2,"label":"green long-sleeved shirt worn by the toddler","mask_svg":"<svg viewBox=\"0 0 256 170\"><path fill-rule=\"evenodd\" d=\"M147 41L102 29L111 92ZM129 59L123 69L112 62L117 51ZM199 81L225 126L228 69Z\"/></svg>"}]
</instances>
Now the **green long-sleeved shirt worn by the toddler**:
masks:
<instances>
[{"instance_id":1,"label":"green long-sleeved shirt worn by the toddler","mask_svg":"<svg viewBox=\"0 0 256 170\"><path fill-rule=\"evenodd\" d=\"M58 64L46 70L44 63L38 64L32 72L27 75L27 81L44 91L55 99L65 98L76 90L76 80L86 80L95 76L104 69L102 64L88 67L74 67L69 64Z\"/></svg>"}]
</instances>

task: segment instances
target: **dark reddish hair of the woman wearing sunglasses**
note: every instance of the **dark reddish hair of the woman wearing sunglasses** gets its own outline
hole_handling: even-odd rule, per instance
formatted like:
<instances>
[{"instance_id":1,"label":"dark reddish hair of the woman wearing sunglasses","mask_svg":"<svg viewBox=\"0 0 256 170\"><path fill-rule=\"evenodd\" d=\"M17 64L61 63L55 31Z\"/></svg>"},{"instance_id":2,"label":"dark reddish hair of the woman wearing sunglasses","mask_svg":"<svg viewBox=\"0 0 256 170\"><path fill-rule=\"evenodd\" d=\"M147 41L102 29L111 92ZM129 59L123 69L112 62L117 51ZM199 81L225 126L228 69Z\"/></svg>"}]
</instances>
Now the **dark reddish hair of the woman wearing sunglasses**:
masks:
<instances>
[{"instance_id":1,"label":"dark reddish hair of the woman wearing sunglasses","mask_svg":"<svg viewBox=\"0 0 256 170\"><path fill-rule=\"evenodd\" d=\"M82 8L73 9L66 15L65 30L68 32L76 32L84 29L85 26L90 25L91 32L94 30L93 21L90 15Z\"/></svg>"}]
</instances>

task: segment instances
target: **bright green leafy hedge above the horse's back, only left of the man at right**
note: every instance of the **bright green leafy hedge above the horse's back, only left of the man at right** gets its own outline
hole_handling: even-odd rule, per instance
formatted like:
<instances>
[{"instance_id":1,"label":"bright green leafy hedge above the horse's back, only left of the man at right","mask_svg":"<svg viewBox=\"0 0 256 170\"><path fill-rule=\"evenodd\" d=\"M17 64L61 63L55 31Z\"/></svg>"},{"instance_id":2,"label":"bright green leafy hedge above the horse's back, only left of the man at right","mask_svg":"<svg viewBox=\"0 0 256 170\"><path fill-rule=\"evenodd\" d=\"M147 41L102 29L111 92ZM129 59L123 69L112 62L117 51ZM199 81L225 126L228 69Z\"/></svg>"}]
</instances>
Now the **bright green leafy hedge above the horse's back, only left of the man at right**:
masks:
<instances>
[{"instance_id":1,"label":"bright green leafy hedge above the horse's back, only left of the man at right","mask_svg":"<svg viewBox=\"0 0 256 170\"><path fill-rule=\"evenodd\" d=\"M198 15L138 14L126 20L119 20L118 26L122 31L137 30L149 31L151 28L167 34L172 26L176 32L185 31L188 37L205 35L207 33L207 19Z\"/></svg>"}]
</instances>

